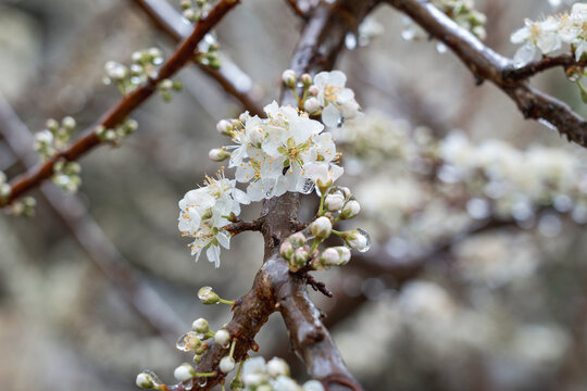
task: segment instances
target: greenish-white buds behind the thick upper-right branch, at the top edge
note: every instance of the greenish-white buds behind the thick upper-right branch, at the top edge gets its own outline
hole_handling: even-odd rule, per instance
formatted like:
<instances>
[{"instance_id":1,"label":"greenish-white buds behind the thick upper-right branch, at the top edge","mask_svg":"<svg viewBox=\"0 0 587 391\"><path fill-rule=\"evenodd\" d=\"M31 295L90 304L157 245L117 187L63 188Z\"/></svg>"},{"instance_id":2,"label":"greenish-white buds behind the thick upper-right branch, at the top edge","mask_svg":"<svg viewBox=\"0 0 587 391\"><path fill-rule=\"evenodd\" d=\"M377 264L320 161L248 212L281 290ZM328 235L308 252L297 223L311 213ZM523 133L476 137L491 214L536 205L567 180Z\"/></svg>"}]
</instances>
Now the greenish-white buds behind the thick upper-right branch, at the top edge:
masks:
<instances>
[{"instance_id":1,"label":"greenish-white buds behind the thick upper-right branch, at the top edge","mask_svg":"<svg viewBox=\"0 0 587 391\"><path fill-rule=\"evenodd\" d=\"M479 39L485 39L487 33L484 26L487 22L487 16L475 10L474 0L432 0L432 3L446 13L460 27L470 30ZM427 34L410 18L407 18L405 28L401 36L405 40L427 38Z\"/></svg>"}]
</instances>

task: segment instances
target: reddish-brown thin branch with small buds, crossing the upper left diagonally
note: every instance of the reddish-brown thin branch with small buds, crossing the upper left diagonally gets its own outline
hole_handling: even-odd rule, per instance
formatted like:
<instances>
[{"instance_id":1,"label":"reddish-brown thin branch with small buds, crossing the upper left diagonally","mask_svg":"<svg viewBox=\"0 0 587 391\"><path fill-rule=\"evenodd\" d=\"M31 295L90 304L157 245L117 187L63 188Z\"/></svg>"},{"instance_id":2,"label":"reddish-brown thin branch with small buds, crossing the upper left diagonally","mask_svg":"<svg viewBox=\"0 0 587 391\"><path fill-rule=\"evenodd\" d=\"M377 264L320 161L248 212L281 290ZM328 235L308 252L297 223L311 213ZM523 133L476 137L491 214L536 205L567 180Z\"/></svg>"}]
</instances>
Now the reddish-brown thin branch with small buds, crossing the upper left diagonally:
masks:
<instances>
[{"instance_id":1,"label":"reddish-brown thin branch with small buds, crossing the upper left diagonally","mask_svg":"<svg viewBox=\"0 0 587 391\"><path fill-rule=\"evenodd\" d=\"M161 66L158 76L149 79L142 87L137 88L121 99L114 108L102 116L97 125L102 125L105 128L113 128L121 124L135 109L155 92L157 85L161 80L172 77L193 58L193 51L197 49L200 40L222 20L224 15L226 15L228 11L238 4L238 2L239 0L220 1L204 20L196 24L191 35L182 42L175 53ZM74 161L101 143L103 142L96 135L93 127L87 130L80 139L66 150L55 153L41 165L14 178L10 184L12 192L3 204L0 203L0 206L11 203L24 192L51 177L51 175L53 175L53 166L58 161L62 159Z\"/></svg>"}]
</instances>

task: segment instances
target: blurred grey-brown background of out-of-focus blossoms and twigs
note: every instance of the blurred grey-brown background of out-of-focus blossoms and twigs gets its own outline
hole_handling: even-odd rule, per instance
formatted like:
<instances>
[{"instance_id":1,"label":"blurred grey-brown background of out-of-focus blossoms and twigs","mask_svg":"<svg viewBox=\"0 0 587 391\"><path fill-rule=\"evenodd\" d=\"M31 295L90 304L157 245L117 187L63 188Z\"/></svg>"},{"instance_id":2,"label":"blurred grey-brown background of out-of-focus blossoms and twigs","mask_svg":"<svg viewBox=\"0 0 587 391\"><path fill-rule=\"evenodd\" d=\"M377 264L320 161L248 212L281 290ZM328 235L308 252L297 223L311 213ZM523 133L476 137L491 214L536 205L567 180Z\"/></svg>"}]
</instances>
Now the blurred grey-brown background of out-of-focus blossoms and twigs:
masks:
<instances>
[{"instance_id":1,"label":"blurred grey-brown background of out-of-focus blossoms and twigs","mask_svg":"<svg viewBox=\"0 0 587 391\"><path fill-rule=\"evenodd\" d=\"M476 4L486 43L508 56L524 17L553 10ZM494 86L476 87L436 42L403 40L395 10L372 16L337 66L365 117L337 137L342 184L363 206L352 224L374 243L316 273L334 299L313 294L350 370L371 391L587 390L587 151L524 121ZM300 27L285 1L248 0L216 30L260 104L278 97ZM175 45L133 1L1 0L0 169L13 177L35 162L30 133L47 118L95 123L120 98L102 83L104 63L153 46ZM208 159L226 142L216 121L241 106L196 66L177 78L184 91L171 103L154 96L134 113L135 135L80 161L77 194L47 184L33 191L35 217L0 217L2 389L134 390L143 368L172 382L189 360L175 339L197 317L213 328L229 319L197 290L233 299L250 288L260 235L235 238L215 269L205 257L195 265L176 220L177 201L218 168ZM561 70L533 83L587 114ZM315 199L304 199L307 216ZM307 376L278 316L257 341Z\"/></svg>"}]
</instances>

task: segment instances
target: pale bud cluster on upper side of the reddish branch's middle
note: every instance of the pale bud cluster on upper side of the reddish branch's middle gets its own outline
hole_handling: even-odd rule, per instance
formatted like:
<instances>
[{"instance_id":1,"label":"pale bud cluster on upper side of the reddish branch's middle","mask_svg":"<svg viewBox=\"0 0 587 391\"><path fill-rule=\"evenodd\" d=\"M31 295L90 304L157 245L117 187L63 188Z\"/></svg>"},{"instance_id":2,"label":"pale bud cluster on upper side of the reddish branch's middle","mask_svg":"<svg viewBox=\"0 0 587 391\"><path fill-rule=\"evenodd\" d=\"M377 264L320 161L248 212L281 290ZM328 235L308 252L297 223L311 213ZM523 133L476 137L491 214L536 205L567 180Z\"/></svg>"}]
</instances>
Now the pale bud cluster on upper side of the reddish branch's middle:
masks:
<instances>
[{"instance_id":1,"label":"pale bud cluster on upper side of the reddish branch's middle","mask_svg":"<svg viewBox=\"0 0 587 391\"><path fill-rule=\"evenodd\" d=\"M114 84L123 94L132 92L148 79L155 78L159 66L163 64L163 54L158 48L136 51L130 59L130 66L115 61L109 61L104 65L104 84ZM168 101L171 99L171 91L180 90L182 84L165 79L161 80L158 89L162 93L163 99Z\"/></svg>"}]
</instances>

